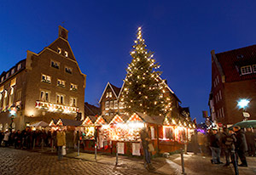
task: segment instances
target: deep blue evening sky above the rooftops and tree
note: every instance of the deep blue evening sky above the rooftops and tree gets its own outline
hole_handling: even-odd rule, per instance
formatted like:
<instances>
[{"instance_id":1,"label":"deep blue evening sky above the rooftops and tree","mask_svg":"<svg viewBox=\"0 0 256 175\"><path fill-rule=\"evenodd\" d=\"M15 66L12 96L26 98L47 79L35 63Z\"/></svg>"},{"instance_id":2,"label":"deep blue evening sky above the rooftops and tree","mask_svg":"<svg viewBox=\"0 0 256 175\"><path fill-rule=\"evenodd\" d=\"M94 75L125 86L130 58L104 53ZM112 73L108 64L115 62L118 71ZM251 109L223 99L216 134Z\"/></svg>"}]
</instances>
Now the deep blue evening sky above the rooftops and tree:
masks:
<instances>
[{"instance_id":1,"label":"deep blue evening sky above the rooftops and tree","mask_svg":"<svg viewBox=\"0 0 256 175\"><path fill-rule=\"evenodd\" d=\"M156 3L158 2L158 3ZM0 71L26 50L38 53L58 37L68 41L87 75L85 101L97 104L107 82L121 87L137 27L143 27L162 78L191 117L202 121L211 90L211 50L255 44L256 2L247 1L7 1L0 4Z\"/></svg>"}]
</instances>

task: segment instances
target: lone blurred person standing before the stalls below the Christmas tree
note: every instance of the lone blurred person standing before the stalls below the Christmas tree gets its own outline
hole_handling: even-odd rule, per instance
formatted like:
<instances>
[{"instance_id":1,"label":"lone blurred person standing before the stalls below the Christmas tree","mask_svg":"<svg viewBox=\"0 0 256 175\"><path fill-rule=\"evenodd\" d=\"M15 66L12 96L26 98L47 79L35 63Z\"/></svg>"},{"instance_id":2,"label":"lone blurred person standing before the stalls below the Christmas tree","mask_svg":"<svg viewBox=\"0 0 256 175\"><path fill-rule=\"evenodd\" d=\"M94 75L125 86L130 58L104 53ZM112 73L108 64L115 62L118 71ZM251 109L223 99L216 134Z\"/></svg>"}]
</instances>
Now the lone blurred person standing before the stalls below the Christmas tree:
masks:
<instances>
[{"instance_id":1,"label":"lone blurred person standing before the stalls below the Christmas tree","mask_svg":"<svg viewBox=\"0 0 256 175\"><path fill-rule=\"evenodd\" d=\"M142 129L142 131L140 132L141 135L141 139L143 142L143 154L144 154L144 167L150 171L150 170L154 170L154 167L151 164L150 161L150 153L148 151L148 144L150 141L150 138L148 136L148 127L144 127Z\"/></svg>"}]
</instances>

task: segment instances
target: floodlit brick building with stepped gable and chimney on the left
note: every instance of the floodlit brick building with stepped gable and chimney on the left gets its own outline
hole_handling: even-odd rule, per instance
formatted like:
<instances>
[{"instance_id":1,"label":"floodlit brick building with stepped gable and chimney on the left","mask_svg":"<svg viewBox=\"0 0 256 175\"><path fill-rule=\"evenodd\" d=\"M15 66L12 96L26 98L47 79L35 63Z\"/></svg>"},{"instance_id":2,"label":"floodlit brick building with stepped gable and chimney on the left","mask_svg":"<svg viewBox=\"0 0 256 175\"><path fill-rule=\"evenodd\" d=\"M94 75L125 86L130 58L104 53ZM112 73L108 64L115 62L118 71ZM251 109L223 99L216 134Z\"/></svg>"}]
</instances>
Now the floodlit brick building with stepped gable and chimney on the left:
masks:
<instances>
[{"instance_id":1,"label":"floodlit brick building with stepped gable and chimney on the left","mask_svg":"<svg viewBox=\"0 0 256 175\"><path fill-rule=\"evenodd\" d=\"M0 76L0 127L23 129L32 121L52 118L84 118L86 76L67 41L68 31L59 26L59 37L38 54L27 51L21 60ZM0 128L0 129L1 129Z\"/></svg>"}]
</instances>

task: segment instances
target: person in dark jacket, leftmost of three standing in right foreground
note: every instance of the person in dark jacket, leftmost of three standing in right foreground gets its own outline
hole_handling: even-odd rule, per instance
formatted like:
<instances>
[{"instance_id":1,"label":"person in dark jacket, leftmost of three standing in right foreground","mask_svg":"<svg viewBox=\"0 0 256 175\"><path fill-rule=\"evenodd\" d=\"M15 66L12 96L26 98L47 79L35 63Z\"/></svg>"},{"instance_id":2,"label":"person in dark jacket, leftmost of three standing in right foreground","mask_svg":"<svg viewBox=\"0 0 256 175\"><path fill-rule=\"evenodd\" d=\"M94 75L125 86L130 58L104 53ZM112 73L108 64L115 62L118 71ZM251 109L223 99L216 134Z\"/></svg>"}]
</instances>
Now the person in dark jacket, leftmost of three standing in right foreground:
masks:
<instances>
[{"instance_id":1,"label":"person in dark jacket, leftmost of three standing in right foreground","mask_svg":"<svg viewBox=\"0 0 256 175\"><path fill-rule=\"evenodd\" d=\"M212 133L209 135L210 148L212 150L212 164L220 164L220 141L217 132L217 128L212 129Z\"/></svg>"}]
</instances>

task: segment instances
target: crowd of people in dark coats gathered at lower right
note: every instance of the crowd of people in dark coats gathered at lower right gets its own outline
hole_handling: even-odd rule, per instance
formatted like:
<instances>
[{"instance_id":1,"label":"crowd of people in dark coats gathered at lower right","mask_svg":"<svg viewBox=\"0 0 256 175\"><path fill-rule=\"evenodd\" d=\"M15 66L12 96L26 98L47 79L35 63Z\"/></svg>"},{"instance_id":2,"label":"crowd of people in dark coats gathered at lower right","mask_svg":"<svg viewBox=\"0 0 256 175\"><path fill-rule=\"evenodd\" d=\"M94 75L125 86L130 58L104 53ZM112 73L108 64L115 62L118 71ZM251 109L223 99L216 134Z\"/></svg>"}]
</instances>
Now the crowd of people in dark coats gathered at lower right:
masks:
<instances>
[{"instance_id":1,"label":"crowd of people in dark coats gathered at lower right","mask_svg":"<svg viewBox=\"0 0 256 175\"><path fill-rule=\"evenodd\" d=\"M231 162L238 174L238 167L247 167L246 155L255 156L255 138L253 128L241 129L241 127L235 126L232 129L223 127L222 130L219 130L213 127L206 134L195 133L192 144L195 154L198 151L202 155L211 153L212 164L223 164L220 161L220 156L223 154L225 157L224 167L229 167ZM238 164L239 160L241 164Z\"/></svg>"}]
</instances>

